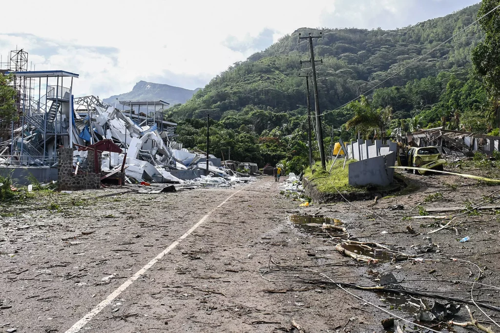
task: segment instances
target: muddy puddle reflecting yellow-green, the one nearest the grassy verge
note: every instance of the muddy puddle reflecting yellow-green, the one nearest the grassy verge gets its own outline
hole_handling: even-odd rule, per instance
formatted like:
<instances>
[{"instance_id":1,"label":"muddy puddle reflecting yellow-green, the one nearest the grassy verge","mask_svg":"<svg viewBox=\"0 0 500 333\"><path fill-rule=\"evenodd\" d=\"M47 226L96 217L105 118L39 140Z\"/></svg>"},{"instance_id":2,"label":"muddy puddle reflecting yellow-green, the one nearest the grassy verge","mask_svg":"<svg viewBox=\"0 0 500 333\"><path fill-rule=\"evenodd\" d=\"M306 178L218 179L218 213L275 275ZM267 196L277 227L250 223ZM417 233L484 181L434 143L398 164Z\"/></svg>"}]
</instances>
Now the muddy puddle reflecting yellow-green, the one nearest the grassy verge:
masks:
<instances>
[{"instance_id":1,"label":"muddy puddle reflecting yellow-green, the one nearest the grassy verge","mask_svg":"<svg viewBox=\"0 0 500 333\"><path fill-rule=\"evenodd\" d=\"M323 228L323 223L336 227L343 226L343 223L340 220L330 217L324 217L321 215L292 215L290 217L290 221L296 228L316 237L339 237L344 234L341 230Z\"/></svg>"}]
</instances>

